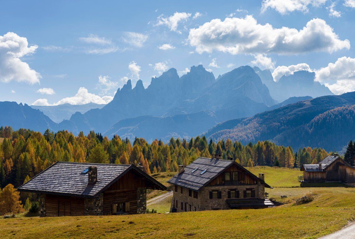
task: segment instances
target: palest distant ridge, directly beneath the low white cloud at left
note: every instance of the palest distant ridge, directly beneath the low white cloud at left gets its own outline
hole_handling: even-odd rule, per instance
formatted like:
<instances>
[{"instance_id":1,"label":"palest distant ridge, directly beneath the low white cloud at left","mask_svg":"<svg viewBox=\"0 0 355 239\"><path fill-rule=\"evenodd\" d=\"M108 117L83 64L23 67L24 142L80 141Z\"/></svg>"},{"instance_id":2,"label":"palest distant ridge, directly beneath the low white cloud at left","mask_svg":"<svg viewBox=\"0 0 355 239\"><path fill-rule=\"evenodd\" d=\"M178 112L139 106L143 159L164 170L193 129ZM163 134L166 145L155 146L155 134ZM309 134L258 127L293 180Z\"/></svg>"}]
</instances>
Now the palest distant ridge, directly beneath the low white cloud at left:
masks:
<instances>
[{"instance_id":1,"label":"palest distant ridge, directly beneath the low white cloud at left","mask_svg":"<svg viewBox=\"0 0 355 239\"><path fill-rule=\"evenodd\" d=\"M47 115L51 120L56 123L62 122L64 119L70 119L70 117L75 112L85 113L91 109L101 109L106 104L95 104L88 103L84 105L71 105L71 104L62 104L55 106L37 106L31 105L33 109L38 109Z\"/></svg>"}]
</instances>

